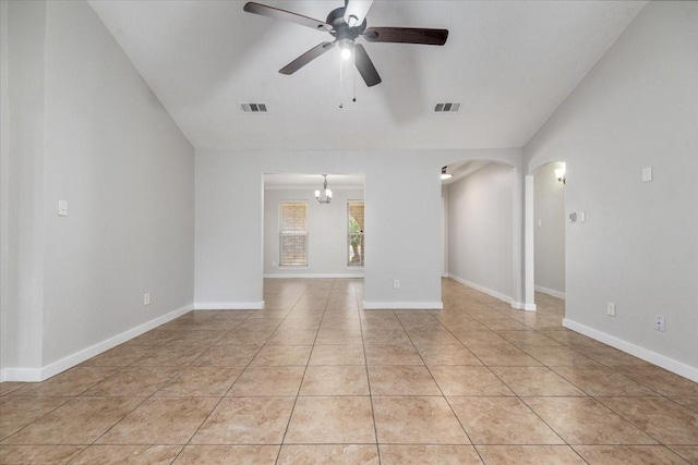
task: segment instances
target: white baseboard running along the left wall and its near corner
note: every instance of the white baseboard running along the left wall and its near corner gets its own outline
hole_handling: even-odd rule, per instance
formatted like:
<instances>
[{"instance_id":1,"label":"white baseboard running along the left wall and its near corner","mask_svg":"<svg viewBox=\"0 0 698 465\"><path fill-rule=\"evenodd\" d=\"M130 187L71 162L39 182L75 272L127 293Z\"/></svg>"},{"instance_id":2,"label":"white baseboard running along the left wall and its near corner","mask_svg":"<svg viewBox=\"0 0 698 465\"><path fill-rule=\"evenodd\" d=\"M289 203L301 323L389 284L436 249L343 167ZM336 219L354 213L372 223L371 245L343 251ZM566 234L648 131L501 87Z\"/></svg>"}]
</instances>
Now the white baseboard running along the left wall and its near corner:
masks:
<instances>
[{"instance_id":1,"label":"white baseboard running along the left wall and its near corner","mask_svg":"<svg viewBox=\"0 0 698 465\"><path fill-rule=\"evenodd\" d=\"M60 360L53 362L52 364L49 364L41 368L4 368L2 369L2 371L0 371L0 381L44 381L52 376L58 375L61 371L65 371L67 369L74 367L75 365L82 364L83 362L94 357L95 355L99 355L103 352L113 348L119 344L123 344L124 342L143 334L144 332L165 325L166 322L171 321L174 318L181 317L182 315L193 310L193 308L194 306L192 304L185 305L181 308L178 308L177 310L170 311L169 314L163 315L161 317L157 317L143 325L139 325L135 328L131 328L130 330L127 330L105 341L98 342L97 344L91 345L87 348L75 352L68 357L61 358Z\"/></svg>"}]
</instances>

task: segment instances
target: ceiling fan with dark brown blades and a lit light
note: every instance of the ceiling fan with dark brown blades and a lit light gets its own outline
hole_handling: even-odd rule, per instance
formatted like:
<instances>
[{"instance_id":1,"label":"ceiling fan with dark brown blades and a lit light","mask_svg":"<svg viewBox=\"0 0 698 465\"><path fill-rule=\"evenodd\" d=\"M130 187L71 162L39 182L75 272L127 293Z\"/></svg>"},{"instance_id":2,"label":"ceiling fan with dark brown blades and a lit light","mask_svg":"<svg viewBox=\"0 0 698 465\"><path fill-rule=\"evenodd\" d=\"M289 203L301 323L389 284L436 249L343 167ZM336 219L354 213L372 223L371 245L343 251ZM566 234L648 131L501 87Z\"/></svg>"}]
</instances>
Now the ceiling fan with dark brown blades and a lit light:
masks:
<instances>
[{"instance_id":1,"label":"ceiling fan with dark brown blades and a lit light","mask_svg":"<svg viewBox=\"0 0 698 465\"><path fill-rule=\"evenodd\" d=\"M318 44L305 53L279 70L281 74L293 74L321 54L338 46L344 58L353 54L353 62L366 83L375 86L381 83L369 53L361 44L354 44L359 37L370 42L400 42L443 46L448 38L447 29L426 29L418 27L366 27L365 16L373 4L373 0L345 0L345 5L329 12L325 22L303 16L298 13L249 2L244 11L261 14L275 20L289 21L301 26L329 33L335 40Z\"/></svg>"}]
</instances>

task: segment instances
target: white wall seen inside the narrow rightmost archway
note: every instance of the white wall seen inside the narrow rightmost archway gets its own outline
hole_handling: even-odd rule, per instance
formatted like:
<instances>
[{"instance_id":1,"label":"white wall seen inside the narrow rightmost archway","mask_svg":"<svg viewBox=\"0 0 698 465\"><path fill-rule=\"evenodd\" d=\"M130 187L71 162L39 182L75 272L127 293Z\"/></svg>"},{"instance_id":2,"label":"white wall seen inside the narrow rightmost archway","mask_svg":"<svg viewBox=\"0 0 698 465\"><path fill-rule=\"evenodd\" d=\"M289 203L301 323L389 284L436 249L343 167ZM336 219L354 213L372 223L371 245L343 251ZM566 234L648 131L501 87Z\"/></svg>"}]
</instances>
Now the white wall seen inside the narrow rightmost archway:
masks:
<instances>
[{"instance_id":1,"label":"white wall seen inside the narrow rightmost archway","mask_svg":"<svg viewBox=\"0 0 698 465\"><path fill-rule=\"evenodd\" d=\"M535 290L565 298L565 184L555 170L565 163L549 163L535 171Z\"/></svg>"}]
</instances>

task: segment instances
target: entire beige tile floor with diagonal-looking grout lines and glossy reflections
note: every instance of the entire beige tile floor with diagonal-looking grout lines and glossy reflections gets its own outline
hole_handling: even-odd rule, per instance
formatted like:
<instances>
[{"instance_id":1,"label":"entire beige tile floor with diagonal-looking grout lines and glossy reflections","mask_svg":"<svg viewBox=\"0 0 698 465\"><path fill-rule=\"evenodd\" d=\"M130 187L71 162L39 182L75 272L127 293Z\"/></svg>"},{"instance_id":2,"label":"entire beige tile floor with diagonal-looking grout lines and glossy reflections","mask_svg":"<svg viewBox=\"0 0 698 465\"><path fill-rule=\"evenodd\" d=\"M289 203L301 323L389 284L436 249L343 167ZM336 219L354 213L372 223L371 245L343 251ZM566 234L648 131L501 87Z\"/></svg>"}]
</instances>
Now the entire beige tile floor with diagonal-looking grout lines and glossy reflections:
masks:
<instances>
[{"instance_id":1,"label":"entire beige tile floor with diagonal-looking grout lines and glossy reflections","mask_svg":"<svg viewBox=\"0 0 698 465\"><path fill-rule=\"evenodd\" d=\"M360 280L267 280L41 383L0 384L2 464L698 463L698 384L443 282L443 311L360 309Z\"/></svg>"}]
</instances>

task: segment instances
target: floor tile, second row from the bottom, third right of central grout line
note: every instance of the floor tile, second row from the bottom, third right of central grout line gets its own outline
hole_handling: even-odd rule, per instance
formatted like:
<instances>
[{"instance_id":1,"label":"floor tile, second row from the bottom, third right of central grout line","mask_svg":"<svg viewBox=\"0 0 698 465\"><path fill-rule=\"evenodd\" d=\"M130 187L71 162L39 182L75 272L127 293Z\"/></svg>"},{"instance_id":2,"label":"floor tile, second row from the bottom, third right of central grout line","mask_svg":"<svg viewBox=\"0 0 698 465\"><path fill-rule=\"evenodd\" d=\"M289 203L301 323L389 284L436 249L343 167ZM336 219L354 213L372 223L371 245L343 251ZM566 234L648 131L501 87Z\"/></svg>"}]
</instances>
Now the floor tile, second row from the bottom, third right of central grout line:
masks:
<instances>
[{"instance_id":1,"label":"floor tile, second row from the bottom, third right of central grout line","mask_svg":"<svg viewBox=\"0 0 698 465\"><path fill-rule=\"evenodd\" d=\"M526 397L524 401L568 444L657 443L590 397Z\"/></svg>"}]
</instances>

